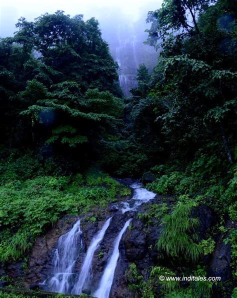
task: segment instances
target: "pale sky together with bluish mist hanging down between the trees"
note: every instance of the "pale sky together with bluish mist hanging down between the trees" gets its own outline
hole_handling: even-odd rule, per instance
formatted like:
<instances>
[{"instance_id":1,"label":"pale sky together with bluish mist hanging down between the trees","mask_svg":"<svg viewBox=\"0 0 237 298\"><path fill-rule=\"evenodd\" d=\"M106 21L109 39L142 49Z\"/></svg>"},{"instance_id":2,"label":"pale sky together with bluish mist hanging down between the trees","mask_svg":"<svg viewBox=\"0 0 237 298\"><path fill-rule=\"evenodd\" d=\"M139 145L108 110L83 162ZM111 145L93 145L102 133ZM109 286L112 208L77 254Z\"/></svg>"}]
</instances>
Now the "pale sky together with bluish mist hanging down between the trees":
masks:
<instances>
[{"instance_id":1,"label":"pale sky together with bluish mist hanging down between the trees","mask_svg":"<svg viewBox=\"0 0 237 298\"><path fill-rule=\"evenodd\" d=\"M102 37L109 44L114 60L119 65L119 84L125 96L136 85L135 75L139 64L144 63L151 71L157 60L155 50L143 42L149 24L146 15L149 10L159 8L161 1L39 1L10 0L0 3L0 37L12 36L17 19L27 20L45 12L53 13L60 9L74 16L83 14L84 19L95 17L99 21Z\"/></svg>"}]
</instances>

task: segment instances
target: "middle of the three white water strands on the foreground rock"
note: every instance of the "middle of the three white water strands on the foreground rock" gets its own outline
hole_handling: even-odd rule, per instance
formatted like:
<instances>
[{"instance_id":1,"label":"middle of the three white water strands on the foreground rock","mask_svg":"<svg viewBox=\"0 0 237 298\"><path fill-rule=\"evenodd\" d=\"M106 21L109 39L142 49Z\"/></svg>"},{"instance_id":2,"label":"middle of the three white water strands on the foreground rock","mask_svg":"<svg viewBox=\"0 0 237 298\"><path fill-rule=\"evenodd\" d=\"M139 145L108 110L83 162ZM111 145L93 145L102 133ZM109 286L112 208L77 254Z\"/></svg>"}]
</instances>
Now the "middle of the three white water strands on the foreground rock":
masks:
<instances>
[{"instance_id":1,"label":"middle of the three white water strands on the foreground rock","mask_svg":"<svg viewBox=\"0 0 237 298\"><path fill-rule=\"evenodd\" d=\"M92 257L94 251L98 247L100 241L103 239L106 229L108 228L112 217L109 217L104 225L102 226L101 230L98 231L92 238L91 243L86 251L86 255L80 270L79 277L76 283L73 286L72 293L74 294L81 294L82 289L84 286L88 285L90 279L92 278Z\"/></svg>"}]
</instances>

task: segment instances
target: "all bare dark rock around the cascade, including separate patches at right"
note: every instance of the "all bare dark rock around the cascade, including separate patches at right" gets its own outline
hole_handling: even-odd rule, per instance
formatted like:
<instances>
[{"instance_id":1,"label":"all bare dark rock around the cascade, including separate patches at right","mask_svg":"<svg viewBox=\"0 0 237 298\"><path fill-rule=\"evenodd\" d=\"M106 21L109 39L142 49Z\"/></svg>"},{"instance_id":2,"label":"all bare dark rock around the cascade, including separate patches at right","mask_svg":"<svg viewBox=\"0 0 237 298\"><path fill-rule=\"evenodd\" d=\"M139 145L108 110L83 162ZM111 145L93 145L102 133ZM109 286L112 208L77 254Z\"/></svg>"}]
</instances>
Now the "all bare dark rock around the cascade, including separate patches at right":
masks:
<instances>
[{"instance_id":1,"label":"all bare dark rock around the cascade, including separate patches at right","mask_svg":"<svg viewBox=\"0 0 237 298\"><path fill-rule=\"evenodd\" d=\"M125 183L130 181L125 181ZM86 255L86 251L91 243L93 236L97 231L101 230L104 222L112 216L109 226L103 239L99 243L92 258L92 279L90 284L83 289L84 293L92 294L99 285L99 281L105 269L105 266L112 254L114 241L122 229L124 223L132 218L130 226L123 234L119 242L119 258L114 272L113 283L110 291L110 297L129 298L136 297L127 288L126 270L131 263L135 263L139 273L143 274L145 279L148 278L149 267L154 265L171 266L172 260L165 258L165 264L162 264L158 258L158 251L155 248L157 239L159 238L162 226L157 219L152 220L152 224L145 224L137 217L138 213L145 213L149 206L154 203L167 202L170 205L172 197L156 196L148 202L138 206L137 210L130 210L122 213L119 208L115 208L114 204L110 204L106 209L97 210L99 220L92 222L89 220L91 213L80 216L80 224L82 234L82 251L78 254L78 258L74 265L74 279L76 279L81 270L81 266ZM103 214L103 216L101 216ZM101 216L101 217L100 217ZM216 222L216 216L213 211L206 206L198 206L192 209L192 216L199 218L200 226L197 230L200 238L205 238L207 231ZM77 221L78 216L64 216L60 219L55 227L51 228L45 236L36 239L35 244L28 255L28 270L23 274L21 262L8 265L5 272L10 277L24 277L27 287L38 286L44 289L41 283L52 276L52 257L54 248L57 245L58 238L68 232L73 224ZM222 239L217 241L212 260L208 260L208 274L210 276L221 276L221 280L226 280L230 276L230 244L225 245ZM76 277L77 276L77 277Z\"/></svg>"}]
</instances>

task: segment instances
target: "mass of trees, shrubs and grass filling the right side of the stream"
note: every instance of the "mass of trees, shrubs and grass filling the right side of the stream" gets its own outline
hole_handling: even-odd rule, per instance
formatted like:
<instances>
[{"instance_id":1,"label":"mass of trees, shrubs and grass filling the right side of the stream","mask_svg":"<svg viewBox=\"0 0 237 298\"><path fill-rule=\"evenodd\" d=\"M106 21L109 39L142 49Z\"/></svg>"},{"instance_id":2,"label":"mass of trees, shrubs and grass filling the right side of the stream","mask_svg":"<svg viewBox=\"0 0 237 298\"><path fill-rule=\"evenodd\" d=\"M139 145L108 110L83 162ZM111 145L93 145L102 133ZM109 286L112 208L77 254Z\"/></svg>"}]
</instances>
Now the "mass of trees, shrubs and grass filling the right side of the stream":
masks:
<instances>
[{"instance_id":1,"label":"mass of trees, shrubs and grass filling the right side of the stream","mask_svg":"<svg viewBox=\"0 0 237 298\"><path fill-rule=\"evenodd\" d=\"M161 50L160 58L151 75L140 65L138 86L126 104L132 142L143 153L139 162L154 177L148 189L174 196L161 221L158 211L157 216L152 210L138 214L146 224L156 218L162 225L156 245L160 258L153 269L158 272L162 258L168 258L162 270L175 272L170 275L191 274L198 265L195 274L205 276L203 259L221 233L224 243L231 243L232 266L231 281L215 284L223 296L231 295L236 278L235 231L224 227L226 220L236 221L236 4L164 0L161 8L148 12L146 43ZM202 239L193 216L198 206L217 216L216 226ZM161 273L152 283L152 271L147 281L132 271L130 287L138 296L156 296L165 289L157 282ZM163 296L209 297L212 287L211 282L195 282L166 288Z\"/></svg>"}]
</instances>

